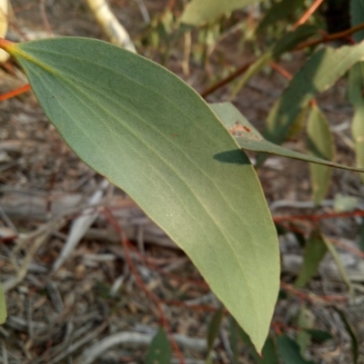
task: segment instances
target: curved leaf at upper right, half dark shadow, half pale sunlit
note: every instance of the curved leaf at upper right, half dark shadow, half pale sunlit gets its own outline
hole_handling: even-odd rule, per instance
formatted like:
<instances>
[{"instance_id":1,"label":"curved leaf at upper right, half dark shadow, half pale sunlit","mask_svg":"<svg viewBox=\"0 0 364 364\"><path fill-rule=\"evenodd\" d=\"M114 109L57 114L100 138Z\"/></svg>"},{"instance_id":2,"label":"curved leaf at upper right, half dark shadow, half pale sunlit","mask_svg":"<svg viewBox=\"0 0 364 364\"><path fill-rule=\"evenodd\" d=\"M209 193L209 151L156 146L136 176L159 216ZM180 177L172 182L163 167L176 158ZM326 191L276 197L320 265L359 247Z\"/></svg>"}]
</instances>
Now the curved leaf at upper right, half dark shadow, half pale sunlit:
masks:
<instances>
[{"instance_id":1,"label":"curved leaf at upper right, half dark shadow, half pale sunlit","mask_svg":"<svg viewBox=\"0 0 364 364\"><path fill-rule=\"evenodd\" d=\"M334 84L353 64L364 58L364 42L338 49L325 46L313 54L295 74L288 89L280 96L268 115L263 135L268 141L283 143L298 113L309 101Z\"/></svg>"}]
</instances>

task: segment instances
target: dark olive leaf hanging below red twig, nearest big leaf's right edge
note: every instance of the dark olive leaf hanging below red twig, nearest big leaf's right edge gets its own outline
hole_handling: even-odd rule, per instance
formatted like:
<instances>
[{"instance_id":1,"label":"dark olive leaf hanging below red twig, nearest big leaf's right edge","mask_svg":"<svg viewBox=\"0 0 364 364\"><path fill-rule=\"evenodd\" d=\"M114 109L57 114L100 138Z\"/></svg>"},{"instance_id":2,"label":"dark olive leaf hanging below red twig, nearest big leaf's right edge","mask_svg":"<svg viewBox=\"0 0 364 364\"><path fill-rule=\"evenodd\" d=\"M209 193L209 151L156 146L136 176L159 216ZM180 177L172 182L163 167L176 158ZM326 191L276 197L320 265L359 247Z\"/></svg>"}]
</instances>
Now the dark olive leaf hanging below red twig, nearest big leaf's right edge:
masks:
<instances>
[{"instance_id":1,"label":"dark olive leaf hanging below red twig, nearest big leaf's right edge","mask_svg":"<svg viewBox=\"0 0 364 364\"><path fill-rule=\"evenodd\" d=\"M319 263L323 260L327 251L328 249L321 234L318 231L314 231L308 239L303 254L302 268L295 282L295 287L305 287L308 281L315 276L319 269Z\"/></svg>"}]
</instances>

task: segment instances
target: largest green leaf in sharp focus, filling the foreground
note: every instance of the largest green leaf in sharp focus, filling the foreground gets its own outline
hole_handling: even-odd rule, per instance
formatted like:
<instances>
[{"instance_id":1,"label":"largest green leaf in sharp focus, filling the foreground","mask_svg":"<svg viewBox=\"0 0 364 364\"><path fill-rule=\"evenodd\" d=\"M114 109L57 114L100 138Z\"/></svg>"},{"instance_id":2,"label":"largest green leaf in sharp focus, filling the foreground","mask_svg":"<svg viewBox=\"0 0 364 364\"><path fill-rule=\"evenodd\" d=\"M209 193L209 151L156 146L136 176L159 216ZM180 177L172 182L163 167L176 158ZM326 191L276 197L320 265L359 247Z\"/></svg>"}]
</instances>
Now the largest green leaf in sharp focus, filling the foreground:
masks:
<instances>
[{"instance_id":1,"label":"largest green leaf in sharp focus, filling the foreground","mask_svg":"<svg viewBox=\"0 0 364 364\"><path fill-rule=\"evenodd\" d=\"M66 143L186 251L260 350L278 297L277 233L253 166L207 103L105 42L0 44Z\"/></svg>"}]
</instances>

